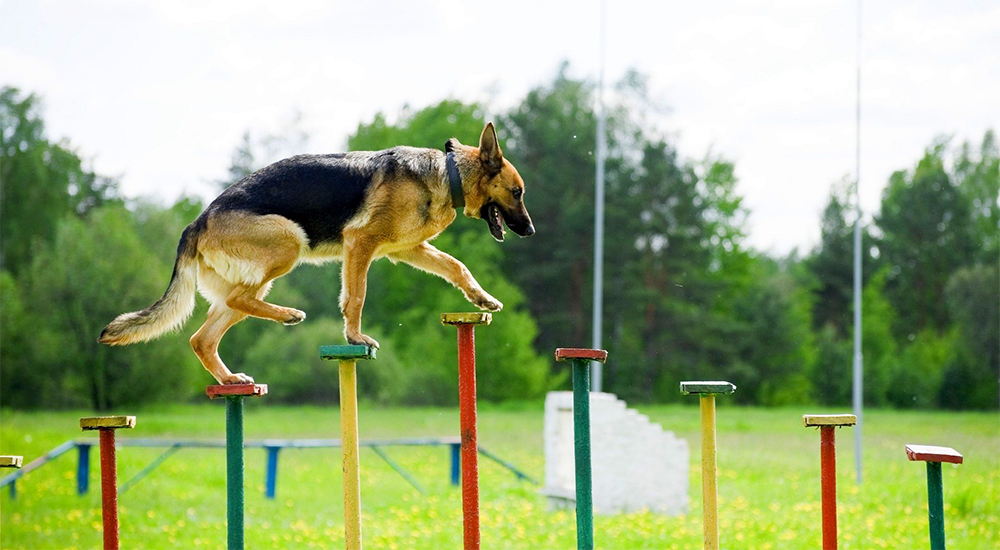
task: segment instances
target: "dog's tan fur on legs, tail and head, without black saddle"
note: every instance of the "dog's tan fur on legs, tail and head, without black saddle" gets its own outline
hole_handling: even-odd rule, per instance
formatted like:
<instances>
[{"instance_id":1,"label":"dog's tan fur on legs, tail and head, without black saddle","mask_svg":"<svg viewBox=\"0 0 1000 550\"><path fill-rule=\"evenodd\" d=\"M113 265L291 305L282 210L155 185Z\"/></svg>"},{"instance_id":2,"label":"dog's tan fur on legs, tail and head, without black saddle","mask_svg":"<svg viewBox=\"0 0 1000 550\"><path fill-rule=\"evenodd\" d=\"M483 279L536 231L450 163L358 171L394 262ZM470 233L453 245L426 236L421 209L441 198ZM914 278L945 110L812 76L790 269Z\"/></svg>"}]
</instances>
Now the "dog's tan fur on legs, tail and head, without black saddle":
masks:
<instances>
[{"instance_id":1,"label":"dog's tan fur on legs, tail and head, without black saddle","mask_svg":"<svg viewBox=\"0 0 1000 550\"><path fill-rule=\"evenodd\" d=\"M533 233L520 196L524 182L514 166L503 158L492 123L483 129L479 147L451 140L449 148L461 174L464 214L479 218L484 205L492 202L502 206L505 213L527 220L530 230L527 234ZM443 169L440 151L414 150L408 154L415 161L426 161ZM147 310L120 315L104 330L100 341L130 344L179 326L193 309L196 281L198 291L211 307L205 323L191 337L191 347L220 383L252 382L246 374L231 372L219 357L219 342L226 331L248 316L286 325L301 322L306 317L304 312L268 303L264 297L275 279L298 264L334 260L343 263L340 307L344 335L353 344L378 347L378 342L361 332L361 311L368 268L381 257L444 278L479 308L489 311L503 308L462 262L429 242L456 218L447 174L441 170L416 176L412 172L399 174L376 173L372 177L360 210L344 225L339 242L310 246L299 224L276 214L210 211L193 242L185 240L185 232L175 276L164 297ZM514 189L521 192L514 196Z\"/></svg>"}]
</instances>

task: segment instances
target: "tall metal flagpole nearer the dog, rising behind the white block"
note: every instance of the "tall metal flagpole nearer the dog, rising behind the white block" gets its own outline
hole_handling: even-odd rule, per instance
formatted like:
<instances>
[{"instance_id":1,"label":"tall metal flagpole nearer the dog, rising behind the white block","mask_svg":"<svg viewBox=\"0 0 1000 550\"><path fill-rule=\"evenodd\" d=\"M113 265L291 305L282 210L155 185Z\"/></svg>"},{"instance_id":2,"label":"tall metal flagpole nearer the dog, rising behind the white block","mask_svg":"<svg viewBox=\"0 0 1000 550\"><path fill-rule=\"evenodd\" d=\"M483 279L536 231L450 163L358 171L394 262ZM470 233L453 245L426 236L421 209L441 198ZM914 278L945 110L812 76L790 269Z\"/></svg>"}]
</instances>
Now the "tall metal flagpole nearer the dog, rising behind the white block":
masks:
<instances>
[{"instance_id":1,"label":"tall metal flagpole nearer the dog, rising behind the white block","mask_svg":"<svg viewBox=\"0 0 1000 550\"><path fill-rule=\"evenodd\" d=\"M607 1L601 1L601 26L598 38L600 48L600 69L597 78L597 170L594 189L594 319L593 349L601 349L601 318L604 305L604 154L607 144L604 135L604 20L607 15ZM602 388L602 367L598 361L591 363L591 387L599 392Z\"/></svg>"}]
</instances>

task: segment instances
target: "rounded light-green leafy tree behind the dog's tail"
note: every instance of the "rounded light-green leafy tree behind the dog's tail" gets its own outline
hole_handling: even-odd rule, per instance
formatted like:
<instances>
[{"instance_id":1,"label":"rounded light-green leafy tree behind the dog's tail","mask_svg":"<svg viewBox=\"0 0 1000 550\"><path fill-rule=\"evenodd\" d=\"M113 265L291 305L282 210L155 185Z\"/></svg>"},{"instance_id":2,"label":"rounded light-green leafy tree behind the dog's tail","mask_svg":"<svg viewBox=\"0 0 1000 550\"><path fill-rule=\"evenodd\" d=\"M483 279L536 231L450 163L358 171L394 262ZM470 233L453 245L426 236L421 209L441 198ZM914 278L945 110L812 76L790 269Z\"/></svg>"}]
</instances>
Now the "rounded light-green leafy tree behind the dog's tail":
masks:
<instances>
[{"instance_id":1,"label":"rounded light-green leafy tree behind the dog's tail","mask_svg":"<svg viewBox=\"0 0 1000 550\"><path fill-rule=\"evenodd\" d=\"M190 392L200 367L185 339L118 348L97 343L109 319L162 293L169 273L123 207L95 210L86 222L65 218L51 245L35 254L22 303L31 359L12 370L32 370L35 386L4 401L108 410Z\"/></svg>"}]
</instances>

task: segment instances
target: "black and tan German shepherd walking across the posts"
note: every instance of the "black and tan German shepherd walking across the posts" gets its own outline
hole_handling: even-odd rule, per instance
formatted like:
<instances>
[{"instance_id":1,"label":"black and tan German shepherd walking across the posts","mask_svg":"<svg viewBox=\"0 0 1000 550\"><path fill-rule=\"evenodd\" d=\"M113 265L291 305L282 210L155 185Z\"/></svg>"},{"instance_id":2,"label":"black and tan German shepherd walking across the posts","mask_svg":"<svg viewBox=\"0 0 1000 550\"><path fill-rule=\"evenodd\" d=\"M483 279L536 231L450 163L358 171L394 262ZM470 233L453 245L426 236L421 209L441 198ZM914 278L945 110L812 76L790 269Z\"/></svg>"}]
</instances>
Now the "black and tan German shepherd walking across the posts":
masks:
<instances>
[{"instance_id":1,"label":"black and tan German shepherd walking across the posts","mask_svg":"<svg viewBox=\"0 0 1000 550\"><path fill-rule=\"evenodd\" d=\"M223 191L187 226L163 297L119 315L99 341L126 345L179 328L194 310L197 289L211 307L191 337L195 354L219 383L252 383L219 358L223 335L247 316L302 322L304 312L264 297L296 265L333 260L343 263L340 309L351 344L378 347L361 333L361 310L368 267L381 257L438 275L477 307L500 311L503 304L462 262L429 242L455 221L456 208L486 220L498 241L505 223L520 236L535 232L524 182L503 157L493 123L478 147L452 138L444 152L394 147L278 161Z\"/></svg>"}]
</instances>

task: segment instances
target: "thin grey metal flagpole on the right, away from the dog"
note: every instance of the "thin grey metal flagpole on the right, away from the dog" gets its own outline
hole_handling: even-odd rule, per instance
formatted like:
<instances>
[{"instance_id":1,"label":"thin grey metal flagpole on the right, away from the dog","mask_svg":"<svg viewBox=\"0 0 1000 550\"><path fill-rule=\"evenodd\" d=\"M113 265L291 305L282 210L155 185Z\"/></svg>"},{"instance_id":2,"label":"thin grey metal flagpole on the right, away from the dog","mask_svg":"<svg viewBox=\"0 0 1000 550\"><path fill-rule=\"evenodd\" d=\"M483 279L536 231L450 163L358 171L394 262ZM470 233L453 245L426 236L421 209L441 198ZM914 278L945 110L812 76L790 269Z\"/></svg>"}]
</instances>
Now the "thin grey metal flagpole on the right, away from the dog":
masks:
<instances>
[{"instance_id":1,"label":"thin grey metal flagpole on the right, away from the dog","mask_svg":"<svg viewBox=\"0 0 1000 550\"><path fill-rule=\"evenodd\" d=\"M854 200L854 415L858 417L854 428L854 463L857 483L861 485L861 409L863 405L864 358L861 354L861 0L858 0L857 42L857 102L855 108L855 169Z\"/></svg>"}]
</instances>

